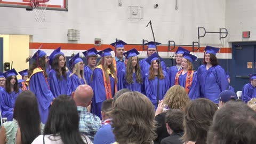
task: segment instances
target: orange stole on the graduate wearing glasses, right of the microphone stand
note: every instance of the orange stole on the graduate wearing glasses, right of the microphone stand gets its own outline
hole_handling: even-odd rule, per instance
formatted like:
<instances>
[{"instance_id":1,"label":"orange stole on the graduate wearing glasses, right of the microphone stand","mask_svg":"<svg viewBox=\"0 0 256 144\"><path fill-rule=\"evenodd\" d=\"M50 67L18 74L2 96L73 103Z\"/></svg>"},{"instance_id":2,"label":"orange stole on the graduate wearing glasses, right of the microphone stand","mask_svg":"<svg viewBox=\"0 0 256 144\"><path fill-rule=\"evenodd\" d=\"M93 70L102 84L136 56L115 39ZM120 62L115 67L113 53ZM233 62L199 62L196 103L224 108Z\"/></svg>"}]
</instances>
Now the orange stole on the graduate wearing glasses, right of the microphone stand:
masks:
<instances>
[{"instance_id":1,"label":"orange stole on the graduate wearing glasses, right of the microphone stand","mask_svg":"<svg viewBox=\"0 0 256 144\"><path fill-rule=\"evenodd\" d=\"M183 69L181 69L176 74L176 76L175 76L175 85L179 85L179 77L180 77L180 74L182 73L182 71L183 71ZM186 86L185 86L185 90L187 91L187 93L191 89L193 75L194 75L194 70L188 70L187 77L186 77Z\"/></svg>"}]
</instances>

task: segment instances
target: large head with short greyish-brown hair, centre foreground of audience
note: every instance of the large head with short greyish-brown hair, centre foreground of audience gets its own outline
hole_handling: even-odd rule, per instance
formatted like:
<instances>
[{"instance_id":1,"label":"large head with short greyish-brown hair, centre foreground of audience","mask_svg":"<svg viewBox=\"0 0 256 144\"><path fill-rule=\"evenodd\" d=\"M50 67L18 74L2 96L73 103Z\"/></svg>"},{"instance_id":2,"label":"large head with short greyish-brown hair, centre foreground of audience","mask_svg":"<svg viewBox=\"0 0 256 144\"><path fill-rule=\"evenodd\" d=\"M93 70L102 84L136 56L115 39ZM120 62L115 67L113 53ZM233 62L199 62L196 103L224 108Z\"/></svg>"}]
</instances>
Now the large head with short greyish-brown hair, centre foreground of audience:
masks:
<instances>
[{"instance_id":1,"label":"large head with short greyish-brown hair, centre foreground of audience","mask_svg":"<svg viewBox=\"0 0 256 144\"><path fill-rule=\"evenodd\" d=\"M154 140L155 108L143 94L133 91L119 97L113 109L113 133L118 143L151 143Z\"/></svg>"}]
</instances>

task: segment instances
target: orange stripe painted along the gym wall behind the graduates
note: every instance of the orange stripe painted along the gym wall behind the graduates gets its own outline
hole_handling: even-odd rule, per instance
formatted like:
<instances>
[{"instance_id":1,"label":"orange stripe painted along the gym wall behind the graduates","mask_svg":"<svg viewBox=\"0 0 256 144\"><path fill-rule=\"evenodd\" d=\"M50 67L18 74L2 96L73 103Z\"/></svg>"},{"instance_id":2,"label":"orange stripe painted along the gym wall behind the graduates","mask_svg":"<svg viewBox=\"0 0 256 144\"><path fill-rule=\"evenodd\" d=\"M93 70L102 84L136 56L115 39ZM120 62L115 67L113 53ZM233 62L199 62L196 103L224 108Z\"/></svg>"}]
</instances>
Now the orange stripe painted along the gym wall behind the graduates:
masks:
<instances>
[{"instance_id":1,"label":"orange stripe painted along the gym wall behind the graduates","mask_svg":"<svg viewBox=\"0 0 256 144\"><path fill-rule=\"evenodd\" d=\"M100 46L95 46L94 44L70 44L70 43L29 43L29 49L37 49L38 47L40 47L43 44L41 49L57 49L59 46L61 46L62 50L89 50L92 47L95 47L95 49L97 49L98 51L106 49L108 47L110 47L111 49L115 49L114 46L110 45L110 44L102 44ZM182 46L183 48L192 51L192 47L191 46ZM125 51L131 50L131 49L137 49L137 51L143 51L143 47L142 45L125 45ZM145 47L146 48L146 47ZM168 51L168 46L166 45L159 45L157 46L158 51L159 52L169 52ZM204 52L204 48L205 47L199 47L198 51L195 52ZM171 46L171 49L173 49L173 46ZM177 51L178 46L175 47L174 50L171 50L170 52L175 52ZM197 47L195 47L195 49L197 49ZM146 51L146 49L145 49ZM231 53L231 47L221 47L220 50L221 53Z\"/></svg>"}]
</instances>

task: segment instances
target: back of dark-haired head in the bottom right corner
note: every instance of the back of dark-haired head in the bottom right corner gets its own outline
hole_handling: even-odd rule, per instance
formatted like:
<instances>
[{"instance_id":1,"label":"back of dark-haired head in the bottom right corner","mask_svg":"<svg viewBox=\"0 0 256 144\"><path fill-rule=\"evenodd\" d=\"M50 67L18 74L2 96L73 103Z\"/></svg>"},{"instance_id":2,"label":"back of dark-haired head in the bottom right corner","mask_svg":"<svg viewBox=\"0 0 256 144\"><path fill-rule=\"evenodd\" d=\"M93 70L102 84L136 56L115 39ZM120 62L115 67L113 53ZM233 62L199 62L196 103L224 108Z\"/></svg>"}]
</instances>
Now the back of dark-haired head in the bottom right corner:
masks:
<instances>
[{"instance_id":1,"label":"back of dark-haired head in the bottom right corner","mask_svg":"<svg viewBox=\"0 0 256 144\"><path fill-rule=\"evenodd\" d=\"M228 102L216 111L207 143L256 143L256 111L242 102Z\"/></svg>"}]
</instances>

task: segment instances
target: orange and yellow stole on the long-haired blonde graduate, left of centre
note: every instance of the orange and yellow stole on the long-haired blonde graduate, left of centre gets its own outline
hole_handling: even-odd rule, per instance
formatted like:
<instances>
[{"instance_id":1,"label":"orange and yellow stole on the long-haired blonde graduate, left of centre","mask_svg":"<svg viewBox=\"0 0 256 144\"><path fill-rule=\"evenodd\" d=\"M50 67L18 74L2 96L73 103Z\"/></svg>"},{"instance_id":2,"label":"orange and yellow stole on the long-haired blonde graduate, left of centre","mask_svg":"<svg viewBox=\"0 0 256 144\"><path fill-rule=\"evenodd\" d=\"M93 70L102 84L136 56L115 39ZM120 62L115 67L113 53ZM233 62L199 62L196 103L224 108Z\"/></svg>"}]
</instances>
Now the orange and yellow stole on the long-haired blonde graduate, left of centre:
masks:
<instances>
[{"instance_id":1,"label":"orange and yellow stole on the long-haired blonde graduate, left of centre","mask_svg":"<svg viewBox=\"0 0 256 144\"><path fill-rule=\"evenodd\" d=\"M102 65L97 66L96 68L100 68L102 70L102 75L103 75L103 80L104 80L104 86L105 86L105 92L106 92L106 99L112 99L112 92L111 92L111 85L110 85L110 80L106 81L106 76L105 76L105 71L102 68ZM110 73L110 69L107 69L107 73ZM113 76L113 74L111 74L111 76L115 79L115 77ZM117 85L115 82L115 93L117 92Z\"/></svg>"}]
</instances>

